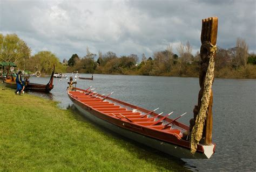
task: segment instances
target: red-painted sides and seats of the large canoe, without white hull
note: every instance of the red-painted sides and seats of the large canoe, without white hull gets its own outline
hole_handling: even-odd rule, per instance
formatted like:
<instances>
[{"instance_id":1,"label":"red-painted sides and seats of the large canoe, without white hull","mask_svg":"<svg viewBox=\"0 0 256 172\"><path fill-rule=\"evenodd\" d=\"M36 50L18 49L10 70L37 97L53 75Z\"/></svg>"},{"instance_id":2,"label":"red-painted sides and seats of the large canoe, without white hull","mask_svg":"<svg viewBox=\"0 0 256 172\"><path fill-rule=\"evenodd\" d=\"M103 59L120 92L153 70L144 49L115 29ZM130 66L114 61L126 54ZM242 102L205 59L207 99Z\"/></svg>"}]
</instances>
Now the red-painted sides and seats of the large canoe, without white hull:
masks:
<instances>
[{"instance_id":1,"label":"red-painted sides and seats of the large canoe, without white hull","mask_svg":"<svg viewBox=\"0 0 256 172\"><path fill-rule=\"evenodd\" d=\"M165 118L163 121L155 124L159 118L157 113L149 113L149 110L143 109L142 107L134 106L129 103L113 99L111 97L104 97L101 95L91 96L88 95L89 91L78 89L77 91L68 91L68 95L71 101L79 107L79 109L89 112L92 116L95 116L103 121L107 121L118 128L129 130L131 132L143 135L145 137L163 141L167 144L178 146L185 151L190 151L190 142L181 139L183 132L189 130L189 127L174 121L167 127L164 127L166 123L170 123L172 119ZM106 98L104 101L99 97ZM128 119L125 119L119 113L123 114ZM116 116L114 116L114 115ZM125 136L125 135L124 135ZM214 147L212 153L214 153ZM204 154L204 146L198 145L196 156L178 156L181 158L204 158L200 154ZM177 156L177 155L174 155ZM209 158L209 157L208 157Z\"/></svg>"}]
</instances>

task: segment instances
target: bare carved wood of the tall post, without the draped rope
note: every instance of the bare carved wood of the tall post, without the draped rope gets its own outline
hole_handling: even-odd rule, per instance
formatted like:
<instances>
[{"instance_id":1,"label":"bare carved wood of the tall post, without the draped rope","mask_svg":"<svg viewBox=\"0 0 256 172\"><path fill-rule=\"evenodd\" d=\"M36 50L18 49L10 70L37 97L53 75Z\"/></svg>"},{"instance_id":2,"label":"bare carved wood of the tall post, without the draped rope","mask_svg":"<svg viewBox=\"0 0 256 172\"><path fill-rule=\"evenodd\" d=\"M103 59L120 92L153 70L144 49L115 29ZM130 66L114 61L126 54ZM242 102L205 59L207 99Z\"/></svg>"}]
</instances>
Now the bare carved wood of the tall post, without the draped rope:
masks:
<instances>
[{"instance_id":1,"label":"bare carved wood of the tall post, without the draped rope","mask_svg":"<svg viewBox=\"0 0 256 172\"><path fill-rule=\"evenodd\" d=\"M199 85L200 91L198 94L198 104L194 106L194 118L190 120L190 132L192 132L194 125L196 124L196 119L201 108L201 99L203 97L205 89L205 80L207 69L209 68L210 56L213 56L215 59L215 48L217 42L217 30L218 30L218 18L211 17L203 19L202 30L201 30L201 48L200 48L200 57L201 57L201 67L199 74ZM214 61L213 61L214 68ZM212 103L213 103L213 94L210 90L210 99L208 100L208 108L206 111L206 121L204 123L203 135L201 137L201 144L210 145L212 143Z\"/></svg>"}]
</instances>

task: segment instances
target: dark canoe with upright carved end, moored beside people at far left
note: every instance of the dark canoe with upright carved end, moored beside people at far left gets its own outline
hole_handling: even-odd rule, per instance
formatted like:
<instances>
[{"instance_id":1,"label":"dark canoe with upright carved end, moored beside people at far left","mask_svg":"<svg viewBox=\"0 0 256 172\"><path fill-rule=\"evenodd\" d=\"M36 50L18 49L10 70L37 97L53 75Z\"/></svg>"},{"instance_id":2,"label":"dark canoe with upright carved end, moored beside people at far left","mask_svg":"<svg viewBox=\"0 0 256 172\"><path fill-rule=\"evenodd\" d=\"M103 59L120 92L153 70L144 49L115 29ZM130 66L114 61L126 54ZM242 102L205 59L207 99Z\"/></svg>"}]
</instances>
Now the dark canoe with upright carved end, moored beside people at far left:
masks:
<instances>
[{"instance_id":1,"label":"dark canoe with upright carved end, moored beside people at far left","mask_svg":"<svg viewBox=\"0 0 256 172\"><path fill-rule=\"evenodd\" d=\"M52 74L51 74L51 78L50 78L50 81L48 82L48 84L37 84L37 83L25 82L25 90L50 92L53 89L54 70L55 70L55 66L53 66L53 68L52 68ZM6 87L9 87L9 88L17 87L15 78L14 78L14 80L6 79L4 82L5 82Z\"/></svg>"}]
</instances>

